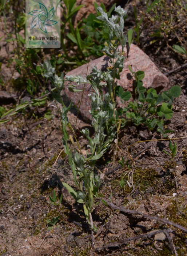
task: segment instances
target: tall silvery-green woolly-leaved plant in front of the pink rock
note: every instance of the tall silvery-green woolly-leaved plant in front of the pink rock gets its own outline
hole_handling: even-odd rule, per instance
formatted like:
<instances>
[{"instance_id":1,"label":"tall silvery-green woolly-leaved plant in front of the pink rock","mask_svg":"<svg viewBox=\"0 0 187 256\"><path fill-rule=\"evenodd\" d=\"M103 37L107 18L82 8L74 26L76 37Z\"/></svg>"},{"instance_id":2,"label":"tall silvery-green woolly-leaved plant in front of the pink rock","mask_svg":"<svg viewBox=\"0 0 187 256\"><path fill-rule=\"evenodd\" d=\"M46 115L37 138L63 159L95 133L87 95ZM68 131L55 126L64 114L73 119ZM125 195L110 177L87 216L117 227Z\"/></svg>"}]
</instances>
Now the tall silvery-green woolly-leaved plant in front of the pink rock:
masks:
<instances>
[{"instance_id":1,"label":"tall silvery-green woolly-leaved plant in front of the pink rock","mask_svg":"<svg viewBox=\"0 0 187 256\"><path fill-rule=\"evenodd\" d=\"M55 92L51 91L56 102L61 104L61 108L57 105L60 113L61 130L63 132L63 145L65 154L68 155L69 165L71 166L74 176L74 182L76 190L69 186L66 182L63 182L63 186L67 189L70 195L74 199L83 204L84 214L87 222L91 226L92 231L96 231L97 227L93 225L92 211L95 208L95 198L98 197L98 190L100 186L100 176L94 173L95 163L100 159L103 154L108 150L111 143L115 139L115 135L119 133L121 120L118 117L117 110L115 108L115 88L117 83L115 79L120 79L120 72L124 67L124 53L118 51L119 43L124 49L127 41L127 35L124 36L124 17L127 11L124 11L121 7L115 7L115 12L119 17L120 25L117 23L117 19L114 16L108 18L106 12L102 7L98 7L100 12L99 20L106 23L110 31L110 43L105 43L103 53L110 58L111 67L102 72L96 67L92 68L92 74L83 78L81 75L66 76L68 82L76 82L77 84L88 83L92 86L94 93L90 96L91 107L90 113L92 114L92 126L95 129L95 137L91 138L88 129L83 129L81 132L88 140L88 147L90 153L87 152L87 156L84 157L81 147L76 139L75 131L69 123L67 113L72 108L73 103L69 106L65 106L61 98L61 90L64 88L64 75L59 77L55 68L52 67L51 62L45 61L42 68L45 69L45 77L51 80L55 87ZM113 40L116 37L118 40ZM103 94L103 85L108 87L108 93ZM76 86L69 85L69 90L76 92ZM73 137L68 134L67 127L71 130ZM106 130L106 132L104 132ZM75 142L76 141L76 145ZM71 145L69 145L71 142Z\"/></svg>"}]
</instances>

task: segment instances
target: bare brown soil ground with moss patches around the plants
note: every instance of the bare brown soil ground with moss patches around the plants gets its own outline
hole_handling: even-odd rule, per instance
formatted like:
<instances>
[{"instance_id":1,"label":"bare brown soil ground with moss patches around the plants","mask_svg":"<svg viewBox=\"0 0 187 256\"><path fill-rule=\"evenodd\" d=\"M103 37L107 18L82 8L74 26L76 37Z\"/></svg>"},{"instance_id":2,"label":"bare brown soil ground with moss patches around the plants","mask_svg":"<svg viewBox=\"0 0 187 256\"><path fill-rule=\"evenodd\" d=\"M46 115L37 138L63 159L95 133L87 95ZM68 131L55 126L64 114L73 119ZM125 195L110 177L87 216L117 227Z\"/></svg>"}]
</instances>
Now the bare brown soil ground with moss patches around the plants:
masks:
<instances>
[{"instance_id":1,"label":"bare brown soil ground with moss patches around the plants","mask_svg":"<svg viewBox=\"0 0 187 256\"><path fill-rule=\"evenodd\" d=\"M144 40L148 39L145 37ZM163 44L161 48L159 43L147 45L144 51L162 72L184 63L182 57L167 45ZM164 218L183 227L187 227L186 72L187 69L181 69L168 76L171 86L178 84L182 87L182 94L173 105L174 116L165 127L174 130L172 138L180 138L175 140L177 154L174 161L163 152L163 149L169 151L167 140L141 142L130 148L132 156L147 146L150 148L134 159L131 170L120 168L118 160L121 155L125 160L129 158L128 147L133 143L161 139L156 131L148 133L147 129L132 125L120 132L114 168L115 146L97 163L98 169L105 174L99 192L101 197L108 198L112 193L110 198L116 206ZM102 201L93 211L93 221L99 227L95 246L114 244L98 251L93 249L82 205L61 187L60 181L73 186L73 176L62 151L59 116L53 109L53 118L44 118L47 109L52 108L50 104L48 102L42 109L26 109L25 119L20 113L0 127L0 255L187 255L187 234L183 230L157 219L115 210ZM33 112L39 120L35 120ZM76 117L71 113L69 120L75 125ZM91 125L80 119L78 126L92 131ZM83 150L86 149L87 142L79 131L77 138ZM132 173L134 189L128 184L122 189L119 181L122 177L130 181ZM49 203L53 189L58 198L63 195L59 209ZM46 220L57 216L60 216L59 222L48 230ZM115 244L155 230L163 232Z\"/></svg>"}]
</instances>

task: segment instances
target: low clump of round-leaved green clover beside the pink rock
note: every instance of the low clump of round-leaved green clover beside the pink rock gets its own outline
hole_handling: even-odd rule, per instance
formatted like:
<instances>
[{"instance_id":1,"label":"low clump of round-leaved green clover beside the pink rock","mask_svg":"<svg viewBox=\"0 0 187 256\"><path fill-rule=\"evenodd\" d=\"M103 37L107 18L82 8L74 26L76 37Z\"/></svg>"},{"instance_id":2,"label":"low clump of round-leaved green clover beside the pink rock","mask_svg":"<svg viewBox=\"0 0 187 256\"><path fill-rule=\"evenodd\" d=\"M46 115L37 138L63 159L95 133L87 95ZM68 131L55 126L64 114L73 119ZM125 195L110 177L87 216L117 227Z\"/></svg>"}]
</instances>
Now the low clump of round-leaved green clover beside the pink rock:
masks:
<instances>
[{"instance_id":1,"label":"low clump of round-leaved green clover beside the pink rock","mask_svg":"<svg viewBox=\"0 0 187 256\"><path fill-rule=\"evenodd\" d=\"M118 112L126 116L124 122L132 121L136 126L147 126L148 131L156 127L163 137L167 137L167 133L173 131L164 131L164 118L170 119L173 116L172 103L174 98L180 96L181 87L173 86L170 90L164 91L162 95L158 95L155 89L146 89L143 86L142 80L145 76L143 71L134 72L130 65L129 69L135 79L135 98L126 105L126 101L131 99L132 94L129 91L124 91L121 86L117 86L116 95L126 105L123 110L119 109Z\"/></svg>"}]
</instances>

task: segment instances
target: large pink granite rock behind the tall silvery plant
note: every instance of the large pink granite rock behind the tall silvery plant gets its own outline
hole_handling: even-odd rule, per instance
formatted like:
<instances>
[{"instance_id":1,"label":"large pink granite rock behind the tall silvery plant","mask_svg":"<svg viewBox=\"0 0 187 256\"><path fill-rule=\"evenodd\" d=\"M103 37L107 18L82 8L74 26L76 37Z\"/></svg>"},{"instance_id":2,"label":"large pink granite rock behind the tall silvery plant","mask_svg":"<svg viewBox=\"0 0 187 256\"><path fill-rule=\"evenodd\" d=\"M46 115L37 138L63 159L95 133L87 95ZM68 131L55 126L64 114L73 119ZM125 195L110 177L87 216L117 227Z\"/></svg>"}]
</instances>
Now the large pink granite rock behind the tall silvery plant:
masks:
<instances>
[{"instance_id":1,"label":"large pink granite rock behind the tall silvery plant","mask_svg":"<svg viewBox=\"0 0 187 256\"><path fill-rule=\"evenodd\" d=\"M121 50L121 48L120 48ZM127 52L127 49L125 49ZM73 69L68 72L67 75L82 75L83 77L91 73L92 67L96 66L98 69L105 71L107 67L110 67L109 58L107 56L102 56L99 59L92 60L89 64L84 64L81 67ZM156 65L151 61L150 57L147 56L138 46L131 44L130 50L128 52L128 58L125 60L125 66L123 71L120 73L120 80L118 80L118 85L122 86L124 90L132 91L133 78L131 72L128 69L128 65L131 65L133 71L144 71L145 77L143 79L143 86L146 88L154 88L158 93L160 91L169 89L168 78L159 71ZM88 71L87 71L88 69ZM73 84L73 83L71 83ZM67 102L73 101L75 105L81 99L82 92L73 93L67 89L68 82L65 82L65 96L64 100ZM76 84L75 84L76 85ZM83 89L84 84L77 86L79 89ZM88 110L91 109L91 104L88 94L92 93L92 88L89 84L85 84L85 91L83 95L83 100L80 107L80 115L83 117L84 121L90 122L92 120L91 114ZM119 103L119 101L118 101ZM77 105L79 106L79 104ZM73 110L72 110L73 111ZM76 110L74 109L74 112Z\"/></svg>"}]
</instances>

